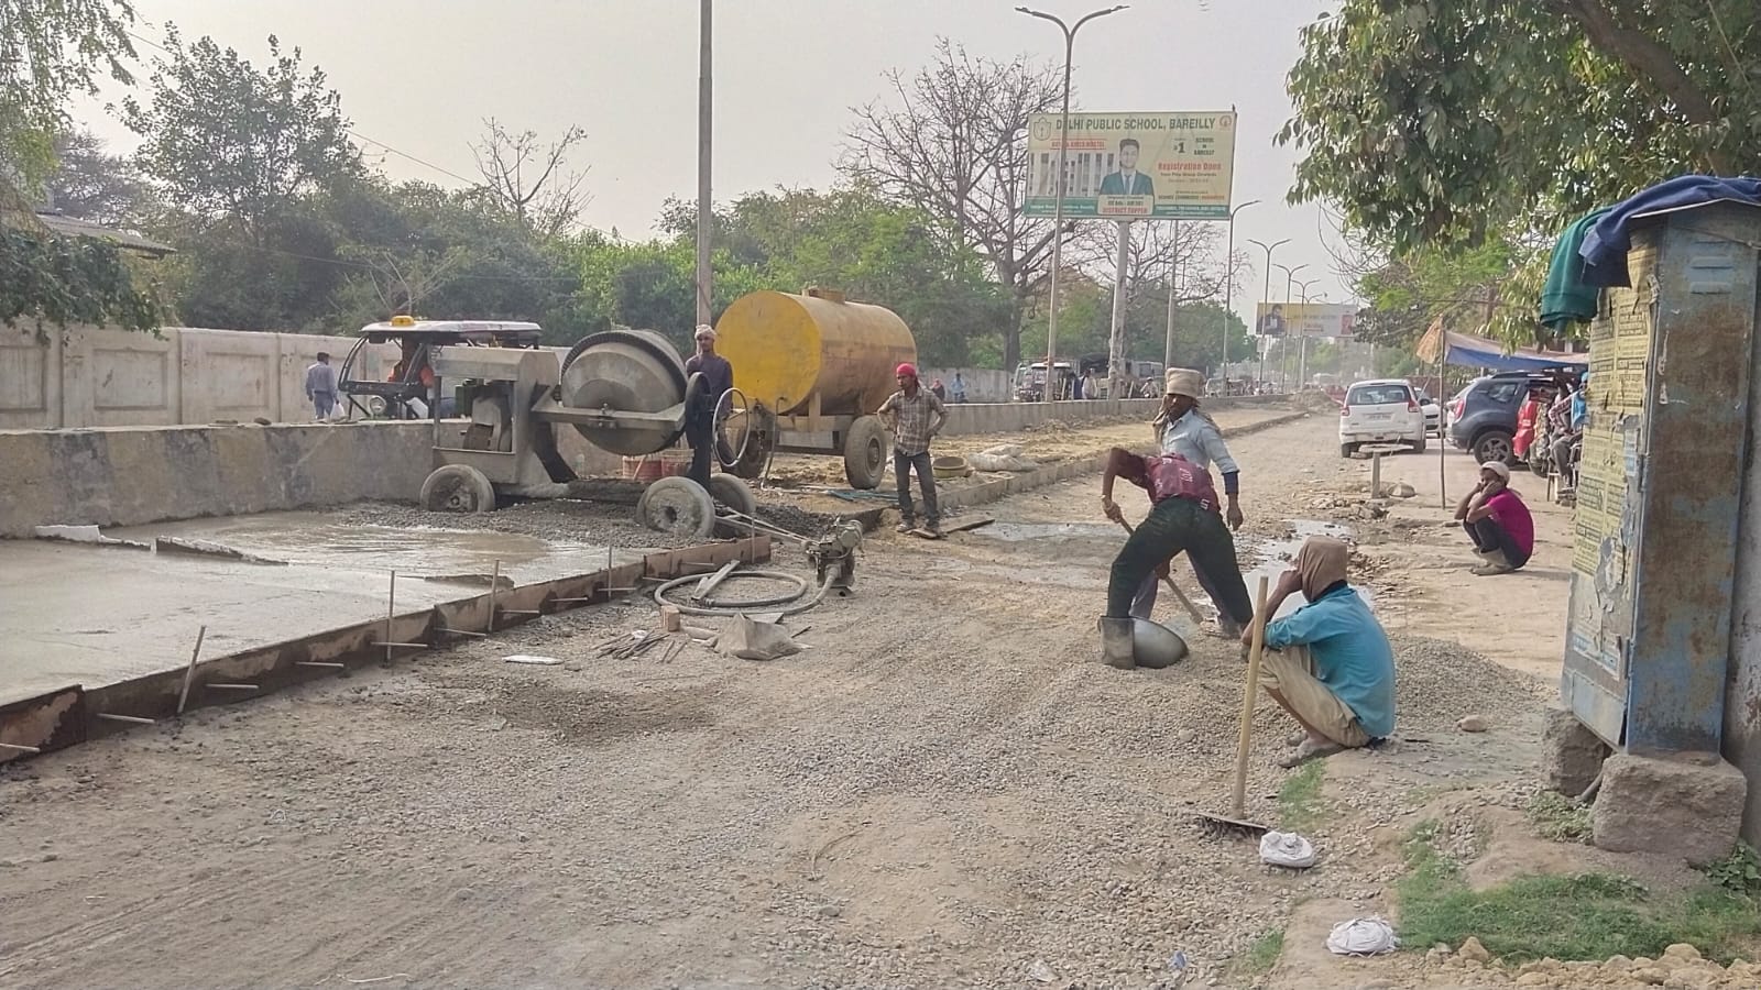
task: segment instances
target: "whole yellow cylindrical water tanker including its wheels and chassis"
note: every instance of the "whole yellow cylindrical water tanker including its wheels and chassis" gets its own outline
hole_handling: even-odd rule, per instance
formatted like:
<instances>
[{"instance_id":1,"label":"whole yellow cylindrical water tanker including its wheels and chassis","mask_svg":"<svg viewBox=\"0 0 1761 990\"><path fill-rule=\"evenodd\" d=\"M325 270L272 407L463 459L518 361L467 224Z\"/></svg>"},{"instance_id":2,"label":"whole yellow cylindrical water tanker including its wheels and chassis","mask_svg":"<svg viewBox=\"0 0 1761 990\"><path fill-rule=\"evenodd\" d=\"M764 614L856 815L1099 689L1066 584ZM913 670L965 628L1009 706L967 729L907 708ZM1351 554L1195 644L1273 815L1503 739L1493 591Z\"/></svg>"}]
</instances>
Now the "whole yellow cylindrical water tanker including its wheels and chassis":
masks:
<instances>
[{"instance_id":1,"label":"whole yellow cylindrical water tanker including its wheels and chassis","mask_svg":"<svg viewBox=\"0 0 1761 990\"><path fill-rule=\"evenodd\" d=\"M842 292L750 292L715 322L715 351L734 366L748 409L727 430L745 439L729 470L759 477L784 453L842 454L852 488L875 488L891 442L873 414L917 359L910 328L893 310Z\"/></svg>"}]
</instances>

